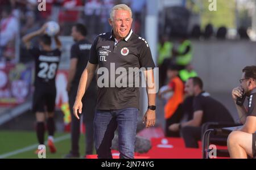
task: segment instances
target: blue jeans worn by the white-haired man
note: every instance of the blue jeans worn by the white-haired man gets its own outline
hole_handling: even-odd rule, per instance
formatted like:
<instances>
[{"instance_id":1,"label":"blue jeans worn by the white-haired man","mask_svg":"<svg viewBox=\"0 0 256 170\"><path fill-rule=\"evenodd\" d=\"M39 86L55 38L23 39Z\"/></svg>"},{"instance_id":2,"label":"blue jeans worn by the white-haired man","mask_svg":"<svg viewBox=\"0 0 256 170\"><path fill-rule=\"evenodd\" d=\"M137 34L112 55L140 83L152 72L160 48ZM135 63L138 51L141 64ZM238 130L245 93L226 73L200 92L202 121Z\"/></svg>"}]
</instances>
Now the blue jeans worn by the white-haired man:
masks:
<instances>
[{"instance_id":1,"label":"blue jeans worn by the white-haired man","mask_svg":"<svg viewBox=\"0 0 256 170\"><path fill-rule=\"evenodd\" d=\"M112 159L110 147L114 132L118 128L118 148L120 158L134 158L134 144L139 110L126 108L119 110L96 110L94 117L95 147L99 159Z\"/></svg>"}]
</instances>

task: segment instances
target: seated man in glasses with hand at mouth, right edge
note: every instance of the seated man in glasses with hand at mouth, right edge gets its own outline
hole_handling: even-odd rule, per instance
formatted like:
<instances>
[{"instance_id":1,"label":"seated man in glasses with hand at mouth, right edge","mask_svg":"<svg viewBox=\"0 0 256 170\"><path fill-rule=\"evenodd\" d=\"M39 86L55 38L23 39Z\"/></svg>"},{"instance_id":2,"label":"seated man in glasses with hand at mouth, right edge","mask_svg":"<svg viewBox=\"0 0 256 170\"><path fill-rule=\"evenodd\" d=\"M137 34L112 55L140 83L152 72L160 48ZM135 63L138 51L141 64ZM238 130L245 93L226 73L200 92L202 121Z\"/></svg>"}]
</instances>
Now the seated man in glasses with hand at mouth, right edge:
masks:
<instances>
[{"instance_id":1,"label":"seated man in glasses with hand at mouth, right edge","mask_svg":"<svg viewBox=\"0 0 256 170\"><path fill-rule=\"evenodd\" d=\"M240 116L242 128L233 131L228 137L230 158L251 158L256 156L256 66L247 66L242 70L241 86L232 91L232 98ZM237 103L237 97L247 96L247 109Z\"/></svg>"}]
</instances>

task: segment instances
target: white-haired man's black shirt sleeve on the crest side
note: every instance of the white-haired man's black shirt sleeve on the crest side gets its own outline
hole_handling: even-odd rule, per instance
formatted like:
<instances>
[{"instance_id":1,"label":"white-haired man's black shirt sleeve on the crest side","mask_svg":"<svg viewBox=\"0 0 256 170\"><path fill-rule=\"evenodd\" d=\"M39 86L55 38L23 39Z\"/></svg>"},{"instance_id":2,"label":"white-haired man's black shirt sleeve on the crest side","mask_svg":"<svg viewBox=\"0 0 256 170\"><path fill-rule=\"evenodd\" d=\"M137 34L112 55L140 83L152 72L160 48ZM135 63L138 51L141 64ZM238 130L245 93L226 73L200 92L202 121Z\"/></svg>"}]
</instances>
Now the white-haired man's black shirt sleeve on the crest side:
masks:
<instances>
[{"instance_id":1,"label":"white-haired man's black shirt sleeve on the crest side","mask_svg":"<svg viewBox=\"0 0 256 170\"><path fill-rule=\"evenodd\" d=\"M146 41L142 41L141 51L139 53L139 64L140 67L144 67L146 70L148 68L155 68L155 63L152 59L150 47L148 46Z\"/></svg>"}]
</instances>

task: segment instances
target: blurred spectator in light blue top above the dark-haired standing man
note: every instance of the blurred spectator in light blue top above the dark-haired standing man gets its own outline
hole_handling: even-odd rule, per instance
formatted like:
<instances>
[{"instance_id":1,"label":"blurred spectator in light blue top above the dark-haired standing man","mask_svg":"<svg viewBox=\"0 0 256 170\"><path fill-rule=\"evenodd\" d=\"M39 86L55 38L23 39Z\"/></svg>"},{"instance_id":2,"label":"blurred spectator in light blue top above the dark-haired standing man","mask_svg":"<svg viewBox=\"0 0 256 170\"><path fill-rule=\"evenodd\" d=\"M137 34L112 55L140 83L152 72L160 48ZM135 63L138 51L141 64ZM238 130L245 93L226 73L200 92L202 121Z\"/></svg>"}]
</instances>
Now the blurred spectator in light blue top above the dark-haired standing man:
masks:
<instances>
[{"instance_id":1,"label":"blurred spectator in light blue top above the dark-haired standing man","mask_svg":"<svg viewBox=\"0 0 256 170\"><path fill-rule=\"evenodd\" d=\"M100 0L86 0L84 6L85 24L88 26L88 34L99 34L101 28L101 8L102 1Z\"/></svg>"}]
</instances>

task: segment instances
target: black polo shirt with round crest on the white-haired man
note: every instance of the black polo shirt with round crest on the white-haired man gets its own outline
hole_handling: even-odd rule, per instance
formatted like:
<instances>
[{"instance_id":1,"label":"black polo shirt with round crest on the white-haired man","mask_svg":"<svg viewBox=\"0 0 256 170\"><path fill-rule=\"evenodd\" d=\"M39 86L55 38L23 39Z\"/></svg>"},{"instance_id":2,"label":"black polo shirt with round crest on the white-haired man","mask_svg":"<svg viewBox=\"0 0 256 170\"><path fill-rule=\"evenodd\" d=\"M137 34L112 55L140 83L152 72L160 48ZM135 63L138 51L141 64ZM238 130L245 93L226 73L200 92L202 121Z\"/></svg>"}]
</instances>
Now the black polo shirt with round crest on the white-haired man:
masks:
<instances>
[{"instance_id":1,"label":"black polo shirt with round crest on the white-haired man","mask_svg":"<svg viewBox=\"0 0 256 170\"><path fill-rule=\"evenodd\" d=\"M98 83L97 109L139 108L139 87L135 86L135 82L127 80L126 87L119 87L115 80L120 76L128 77L129 69L154 69L155 64L146 40L132 30L119 42L115 40L112 32L102 33L92 44L89 62L98 65L98 82L107 71L109 76L108 79L102 80L107 86L102 87ZM115 72L123 68L128 74L123 75L120 70L119 74ZM99 70L104 69L105 73L100 73ZM133 78L135 79L135 75Z\"/></svg>"}]
</instances>

